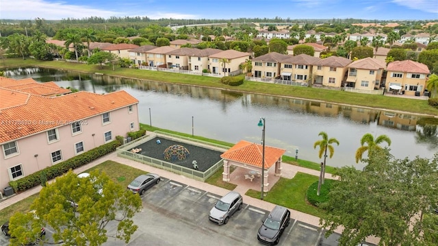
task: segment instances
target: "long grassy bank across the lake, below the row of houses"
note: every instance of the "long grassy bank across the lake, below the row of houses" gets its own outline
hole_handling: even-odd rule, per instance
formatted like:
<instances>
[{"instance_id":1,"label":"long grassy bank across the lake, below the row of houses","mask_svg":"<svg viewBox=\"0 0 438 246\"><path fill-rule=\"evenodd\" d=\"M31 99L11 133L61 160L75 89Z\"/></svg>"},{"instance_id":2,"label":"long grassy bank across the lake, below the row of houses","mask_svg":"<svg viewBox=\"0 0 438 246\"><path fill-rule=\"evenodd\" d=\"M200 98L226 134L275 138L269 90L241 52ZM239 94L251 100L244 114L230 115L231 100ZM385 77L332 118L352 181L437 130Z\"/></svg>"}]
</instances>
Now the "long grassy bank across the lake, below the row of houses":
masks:
<instances>
[{"instance_id":1,"label":"long grassy bank across the lake, below the row of houses","mask_svg":"<svg viewBox=\"0 0 438 246\"><path fill-rule=\"evenodd\" d=\"M326 90L322 88L284 86L281 84L248 81L245 81L244 84L242 84L241 86L227 86L221 84L220 78L217 77L122 68L116 68L113 71L112 66L103 66L103 68L101 68L99 65L77 64L56 60L39 61L32 59L23 60L19 58L8 58L0 60L0 69L7 69L18 66L40 66L49 69L61 69L77 71L81 73L103 73L105 75L111 76L147 79L173 84L203 86L209 88L218 88L222 90L237 91L240 93L256 93L280 97L293 97L298 99L309 99L313 101L326 101L340 105L374 108L378 110L393 110L397 112L408 112L409 114L432 117L438 116L438 109L429 106L426 100L407 99L401 97L385 97L382 95L348 93L342 90Z\"/></svg>"}]
</instances>

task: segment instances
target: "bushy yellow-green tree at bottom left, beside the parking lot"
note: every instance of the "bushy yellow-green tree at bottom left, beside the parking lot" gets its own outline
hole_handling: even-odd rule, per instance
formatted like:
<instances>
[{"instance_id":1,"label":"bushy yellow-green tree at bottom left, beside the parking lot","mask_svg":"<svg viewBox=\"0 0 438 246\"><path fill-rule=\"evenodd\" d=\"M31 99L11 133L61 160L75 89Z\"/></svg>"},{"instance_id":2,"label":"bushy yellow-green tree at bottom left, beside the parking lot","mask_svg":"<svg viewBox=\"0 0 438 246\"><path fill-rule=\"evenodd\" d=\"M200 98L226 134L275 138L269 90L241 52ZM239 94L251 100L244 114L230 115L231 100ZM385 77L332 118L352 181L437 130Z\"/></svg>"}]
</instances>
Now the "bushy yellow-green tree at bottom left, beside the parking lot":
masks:
<instances>
[{"instance_id":1,"label":"bushy yellow-green tree at bottom left, beside the parking lot","mask_svg":"<svg viewBox=\"0 0 438 246\"><path fill-rule=\"evenodd\" d=\"M43 187L34 200L31 209L40 219L30 221L27 217L27 223L23 223L23 219L14 218L20 215L14 214L10 233L23 241L27 236L21 233L23 226L31 223L32 228L50 226L54 241L64 241L65 245L102 245L108 236L128 243L138 228L132 217L141 208L140 196L112 182L105 173L92 171L89 177L80 178L69 171ZM117 224L116 232L105 230L109 223Z\"/></svg>"}]
</instances>

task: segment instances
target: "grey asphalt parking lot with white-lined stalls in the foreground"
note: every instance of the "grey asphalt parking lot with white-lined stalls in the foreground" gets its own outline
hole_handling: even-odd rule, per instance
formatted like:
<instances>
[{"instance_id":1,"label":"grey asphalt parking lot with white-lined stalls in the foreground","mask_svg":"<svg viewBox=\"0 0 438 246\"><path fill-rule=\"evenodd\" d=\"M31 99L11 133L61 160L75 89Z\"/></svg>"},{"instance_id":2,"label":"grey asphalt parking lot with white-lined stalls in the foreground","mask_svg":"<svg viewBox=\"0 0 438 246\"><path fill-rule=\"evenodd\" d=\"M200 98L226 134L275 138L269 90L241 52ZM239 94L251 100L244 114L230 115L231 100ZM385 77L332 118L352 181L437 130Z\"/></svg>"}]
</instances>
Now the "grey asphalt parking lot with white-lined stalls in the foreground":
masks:
<instances>
[{"instance_id":1,"label":"grey asphalt parking lot with white-lined stalls in the foreground","mask_svg":"<svg viewBox=\"0 0 438 246\"><path fill-rule=\"evenodd\" d=\"M108 238L104 245L263 245L257 241L257 231L270 211L244 201L242 210L229 223L218 225L208 219L209 210L218 199L216 194L162 178L142 195L143 210L133 217L138 230L129 243ZM108 234L114 234L115 226L107 225ZM49 228L47 232L50 238ZM279 245L316 246L323 237L320 228L291 219ZM0 242L8 245L8 238L2 235Z\"/></svg>"}]
</instances>

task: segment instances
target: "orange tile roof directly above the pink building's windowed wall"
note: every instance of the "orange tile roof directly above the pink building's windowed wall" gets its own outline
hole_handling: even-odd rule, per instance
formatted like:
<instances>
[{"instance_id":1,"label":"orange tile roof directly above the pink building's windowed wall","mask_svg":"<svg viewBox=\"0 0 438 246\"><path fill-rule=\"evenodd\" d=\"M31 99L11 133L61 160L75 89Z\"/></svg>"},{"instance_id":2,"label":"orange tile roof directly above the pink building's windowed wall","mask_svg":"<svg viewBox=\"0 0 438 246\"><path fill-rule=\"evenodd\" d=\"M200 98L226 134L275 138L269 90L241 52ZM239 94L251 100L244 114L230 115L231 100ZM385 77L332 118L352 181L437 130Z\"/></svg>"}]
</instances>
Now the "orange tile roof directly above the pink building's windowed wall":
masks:
<instances>
[{"instance_id":1,"label":"orange tile roof directly above the pink building's windowed wall","mask_svg":"<svg viewBox=\"0 0 438 246\"><path fill-rule=\"evenodd\" d=\"M47 131L60 125L58 123L70 124L138 103L137 99L124 90L105 95L80 91L61 97L42 97L12 92L0 88L2 103L16 101L16 106L3 108L0 111L2 121L10 122L0 125L0 143Z\"/></svg>"}]
</instances>

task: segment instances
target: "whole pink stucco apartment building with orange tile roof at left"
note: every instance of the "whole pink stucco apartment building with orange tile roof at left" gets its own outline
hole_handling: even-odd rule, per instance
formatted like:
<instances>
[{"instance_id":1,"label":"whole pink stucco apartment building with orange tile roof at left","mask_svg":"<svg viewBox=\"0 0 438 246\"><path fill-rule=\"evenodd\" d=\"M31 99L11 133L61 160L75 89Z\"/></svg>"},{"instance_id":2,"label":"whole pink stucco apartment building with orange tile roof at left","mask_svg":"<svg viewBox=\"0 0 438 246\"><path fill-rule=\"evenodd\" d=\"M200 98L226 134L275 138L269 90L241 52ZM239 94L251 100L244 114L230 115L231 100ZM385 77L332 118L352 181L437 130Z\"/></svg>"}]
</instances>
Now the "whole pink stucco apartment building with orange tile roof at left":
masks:
<instances>
[{"instance_id":1,"label":"whole pink stucco apartment building with orange tile roof at left","mask_svg":"<svg viewBox=\"0 0 438 246\"><path fill-rule=\"evenodd\" d=\"M0 189L139 130L138 100L123 90L69 93L53 82L0 77Z\"/></svg>"}]
</instances>

